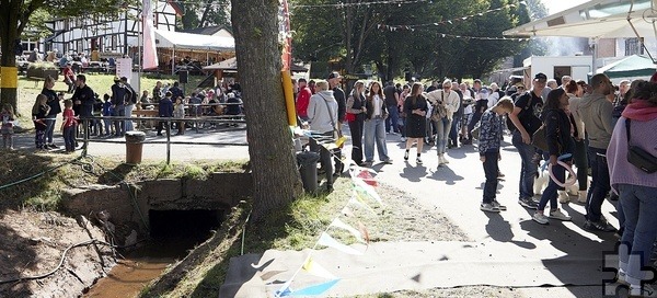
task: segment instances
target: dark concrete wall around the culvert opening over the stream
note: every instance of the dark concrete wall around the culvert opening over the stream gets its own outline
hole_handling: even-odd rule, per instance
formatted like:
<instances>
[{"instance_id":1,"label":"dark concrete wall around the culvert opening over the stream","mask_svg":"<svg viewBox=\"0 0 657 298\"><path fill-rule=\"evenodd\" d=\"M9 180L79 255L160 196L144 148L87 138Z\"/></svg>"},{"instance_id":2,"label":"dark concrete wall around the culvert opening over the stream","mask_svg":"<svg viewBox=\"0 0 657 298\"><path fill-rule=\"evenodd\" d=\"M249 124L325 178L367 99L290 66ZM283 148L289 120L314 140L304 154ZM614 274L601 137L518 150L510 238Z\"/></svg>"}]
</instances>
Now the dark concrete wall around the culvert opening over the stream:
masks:
<instances>
[{"instance_id":1,"label":"dark concrete wall around the culvert opening over the stream","mask_svg":"<svg viewBox=\"0 0 657 298\"><path fill-rule=\"evenodd\" d=\"M88 185L62 191L61 207L70 216L96 219L100 211L111 215L115 241L132 244L148 234L149 210L230 210L251 196L253 180L245 173L214 173L208 180L157 180L135 185ZM99 224L99 220L95 220ZM132 237L129 237L132 234ZM129 238L130 240L126 240Z\"/></svg>"}]
</instances>

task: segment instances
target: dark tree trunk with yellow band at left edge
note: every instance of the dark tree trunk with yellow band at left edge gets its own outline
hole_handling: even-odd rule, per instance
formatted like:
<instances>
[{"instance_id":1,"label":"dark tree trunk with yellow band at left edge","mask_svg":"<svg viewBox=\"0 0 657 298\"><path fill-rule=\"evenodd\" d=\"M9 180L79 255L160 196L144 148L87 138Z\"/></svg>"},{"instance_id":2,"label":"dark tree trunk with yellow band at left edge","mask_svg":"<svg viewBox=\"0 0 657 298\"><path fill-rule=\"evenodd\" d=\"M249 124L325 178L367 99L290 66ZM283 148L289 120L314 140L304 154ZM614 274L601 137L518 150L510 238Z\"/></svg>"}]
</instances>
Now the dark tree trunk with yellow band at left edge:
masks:
<instances>
[{"instance_id":1,"label":"dark tree trunk with yellow band at left edge","mask_svg":"<svg viewBox=\"0 0 657 298\"><path fill-rule=\"evenodd\" d=\"M18 71L15 41L19 38L19 8L21 1L2 1L0 5L0 103L9 103L18 112Z\"/></svg>"}]
</instances>

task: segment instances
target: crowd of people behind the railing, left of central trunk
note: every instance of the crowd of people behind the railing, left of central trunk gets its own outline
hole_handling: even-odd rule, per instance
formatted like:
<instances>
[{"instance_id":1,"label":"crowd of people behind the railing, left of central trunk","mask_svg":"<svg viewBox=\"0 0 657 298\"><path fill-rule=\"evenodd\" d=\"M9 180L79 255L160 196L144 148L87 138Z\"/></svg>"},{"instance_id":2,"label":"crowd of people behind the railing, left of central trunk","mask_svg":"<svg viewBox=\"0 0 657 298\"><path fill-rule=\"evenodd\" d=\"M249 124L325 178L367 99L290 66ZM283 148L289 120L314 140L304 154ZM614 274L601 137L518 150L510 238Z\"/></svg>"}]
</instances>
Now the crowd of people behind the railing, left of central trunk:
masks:
<instances>
[{"instance_id":1,"label":"crowd of people behind the railing, left of central trunk","mask_svg":"<svg viewBox=\"0 0 657 298\"><path fill-rule=\"evenodd\" d=\"M65 71L65 82L71 82L67 98L66 92L56 92L55 79L47 77L41 94L37 95L32 108L32 119L35 127L35 146L37 150L59 150L54 139L55 124L60 117L60 131L64 139L65 152L72 152L79 146L77 139L88 134L91 137L124 137L126 131L136 129L135 110L155 110L159 117L172 117L176 135L185 133L185 116L217 116L243 114L241 88L231 83L212 89L197 89L185 95L178 82L163 84L158 81L149 93L143 90L141 95L129 84L126 77L114 78L111 92L100 95L87 84L84 74L70 74L68 67ZM70 101L70 103L69 103ZM62 107L62 104L65 105ZM70 107L68 106L70 105ZM203 106L203 107L201 107ZM205 108L204 108L205 107ZM69 111L70 110L70 111ZM61 114L61 115L60 115ZM5 104L0 114L2 118L3 148L13 149L13 124L15 116L13 107ZM84 123L88 127L84 127ZM170 123L158 122L157 135L162 136L162 129ZM229 123L228 125L235 125Z\"/></svg>"}]
</instances>

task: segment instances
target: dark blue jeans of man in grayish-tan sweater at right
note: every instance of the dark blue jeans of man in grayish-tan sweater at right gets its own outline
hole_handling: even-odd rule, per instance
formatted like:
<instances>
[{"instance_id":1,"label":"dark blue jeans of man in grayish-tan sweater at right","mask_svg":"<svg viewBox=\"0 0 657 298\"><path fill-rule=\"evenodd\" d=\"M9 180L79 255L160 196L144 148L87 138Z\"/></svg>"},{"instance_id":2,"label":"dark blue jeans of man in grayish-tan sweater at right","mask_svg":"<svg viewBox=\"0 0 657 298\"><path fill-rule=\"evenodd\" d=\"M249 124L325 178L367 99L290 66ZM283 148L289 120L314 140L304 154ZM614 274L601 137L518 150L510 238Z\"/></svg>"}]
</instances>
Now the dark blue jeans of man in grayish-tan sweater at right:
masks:
<instances>
[{"instance_id":1,"label":"dark blue jeans of man in grayish-tan sweater at right","mask_svg":"<svg viewBox=\"0 0 657 298\"><path fill-rule=\"evenodd\" d=\"M611 186L609 185L609 169L607 168L607 149L588 148L591 164L591 186L586 198L586 219L600 220L602 203Z\"/></svg>"}]
</instances>

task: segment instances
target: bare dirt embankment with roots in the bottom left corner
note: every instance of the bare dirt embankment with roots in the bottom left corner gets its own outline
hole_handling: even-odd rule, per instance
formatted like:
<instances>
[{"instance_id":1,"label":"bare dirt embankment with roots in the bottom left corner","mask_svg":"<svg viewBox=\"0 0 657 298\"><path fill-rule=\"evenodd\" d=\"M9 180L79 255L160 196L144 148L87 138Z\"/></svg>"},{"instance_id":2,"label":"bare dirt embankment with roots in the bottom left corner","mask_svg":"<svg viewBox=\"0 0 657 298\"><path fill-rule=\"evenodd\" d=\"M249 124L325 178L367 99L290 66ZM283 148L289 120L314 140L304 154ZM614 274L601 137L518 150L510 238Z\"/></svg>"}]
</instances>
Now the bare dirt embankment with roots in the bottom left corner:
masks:
<instances>
[{"instance_id":1,"label":"bare dirt embankment with roots in the bottom left corner","mask_svg":"<svg viewBox=\"0 0 657 298\"><path fill-rule=\"evenodd\" d=\"M103 232L81 217L5 210L0 236L0 297L78 297L115 265Z\"/></svg>"}]
</instances>

